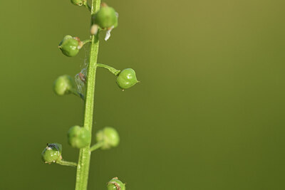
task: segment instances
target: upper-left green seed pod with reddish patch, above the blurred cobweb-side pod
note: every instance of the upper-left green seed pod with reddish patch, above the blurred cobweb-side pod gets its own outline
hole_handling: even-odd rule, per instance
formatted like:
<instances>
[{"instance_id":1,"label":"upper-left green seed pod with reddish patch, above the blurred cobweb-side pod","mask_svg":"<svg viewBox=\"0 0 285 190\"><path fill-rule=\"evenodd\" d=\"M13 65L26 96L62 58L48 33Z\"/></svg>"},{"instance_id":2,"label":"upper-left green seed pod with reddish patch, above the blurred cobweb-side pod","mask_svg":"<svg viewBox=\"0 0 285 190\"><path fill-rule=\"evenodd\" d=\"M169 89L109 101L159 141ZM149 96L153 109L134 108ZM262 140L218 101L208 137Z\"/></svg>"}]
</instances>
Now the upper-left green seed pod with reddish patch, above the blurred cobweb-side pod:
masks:
<instances>
[{"instance_id":1,"label":"upper-left green seed pod with reddish patch, above the blurred cobweb-side pod","mask_svg":"<svg viewBox=\"0 0 285 190\"><path fill-rule=\"evenodd\" d=\"M63 38L61 43L59 43L58 48L61 49L62 53L68 57L74 57L79 52L79 38L73 38L70 35L67 35Z\"/></svg>"}]
</instances>

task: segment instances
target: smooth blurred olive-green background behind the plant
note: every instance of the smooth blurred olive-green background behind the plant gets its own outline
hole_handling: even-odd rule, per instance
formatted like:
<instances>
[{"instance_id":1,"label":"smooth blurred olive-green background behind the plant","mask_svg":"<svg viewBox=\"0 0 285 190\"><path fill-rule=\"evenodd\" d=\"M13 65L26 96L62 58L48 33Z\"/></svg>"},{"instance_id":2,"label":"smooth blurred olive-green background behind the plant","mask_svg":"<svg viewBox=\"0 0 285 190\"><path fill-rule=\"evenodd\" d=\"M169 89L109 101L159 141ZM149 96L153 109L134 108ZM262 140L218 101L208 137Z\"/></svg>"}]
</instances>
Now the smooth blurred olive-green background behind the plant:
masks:
<instances>
[{"instance_id":1,"label":"smooth blurred olive-green background behind the plant","mask_svg":"<svg viewBox=\"0 0 285 190\"><path fill-rule=\"evenodd\" d=\"M98 69L93 131L116 127L121 143L92 154L88 189L114 176L131 190L285 189L285 1L106 2L120 19L99 62L142 83L122 92ZM52 84L81 70L86 53L57 46L88 38L89 13L68 0L1 1L0 23L0 189L73 189L76 170L41 152L59 142L78 159L66 132L82 125L82 102Z\"/></svg>"}]
</instances>

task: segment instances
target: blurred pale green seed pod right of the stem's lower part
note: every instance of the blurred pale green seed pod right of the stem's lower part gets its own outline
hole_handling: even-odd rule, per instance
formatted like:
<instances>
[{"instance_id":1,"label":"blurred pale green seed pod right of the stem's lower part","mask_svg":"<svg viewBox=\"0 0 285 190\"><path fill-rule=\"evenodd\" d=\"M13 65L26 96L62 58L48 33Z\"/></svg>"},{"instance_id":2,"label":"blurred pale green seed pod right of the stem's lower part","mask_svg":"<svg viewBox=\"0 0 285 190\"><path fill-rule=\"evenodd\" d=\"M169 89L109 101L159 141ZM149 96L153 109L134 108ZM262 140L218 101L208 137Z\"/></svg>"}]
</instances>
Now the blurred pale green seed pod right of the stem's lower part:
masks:
<instances>
[{"instance_id":1,"label":"blurred pale green seed pod right of the stem's lower part","mask_svg":"<svg viewBox=\"0 0 285 190\"><path fill-rule=\"evenodd\" d=\"M117 147L120 142L118 132L113 127L105 127L96 134L97 142L103 142L101 149Z\"/></svg>"}]
</instances>

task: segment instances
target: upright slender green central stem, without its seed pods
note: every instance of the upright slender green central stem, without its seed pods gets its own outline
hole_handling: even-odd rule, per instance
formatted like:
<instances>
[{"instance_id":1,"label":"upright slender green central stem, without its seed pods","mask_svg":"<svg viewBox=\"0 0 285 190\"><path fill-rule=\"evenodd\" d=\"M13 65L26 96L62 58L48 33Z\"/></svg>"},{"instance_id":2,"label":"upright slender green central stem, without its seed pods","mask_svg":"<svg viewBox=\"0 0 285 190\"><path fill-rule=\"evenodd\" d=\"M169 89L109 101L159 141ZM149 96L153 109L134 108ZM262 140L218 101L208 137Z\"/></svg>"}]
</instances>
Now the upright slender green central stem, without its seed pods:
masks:
<instances>
[{"instance_id":1,"label":"upright slender green central stem, without its seed pods","mask_svg":"<svg viewBox=\"0 0 285 190\"><path fill-rule=\"evenodd\" d=\"M100 9L100 0L92 0L91 16ZM99 33L91 36L90 58L86 81L86 102L84 112L84 128L92 132L93 105L95 93L95 74L97 68ZM91 138L92 139L92 138ZM76 174L76 190L86 190L90 165L90 142L87 147L80 149Z\"/></svg>"}]
</instances>

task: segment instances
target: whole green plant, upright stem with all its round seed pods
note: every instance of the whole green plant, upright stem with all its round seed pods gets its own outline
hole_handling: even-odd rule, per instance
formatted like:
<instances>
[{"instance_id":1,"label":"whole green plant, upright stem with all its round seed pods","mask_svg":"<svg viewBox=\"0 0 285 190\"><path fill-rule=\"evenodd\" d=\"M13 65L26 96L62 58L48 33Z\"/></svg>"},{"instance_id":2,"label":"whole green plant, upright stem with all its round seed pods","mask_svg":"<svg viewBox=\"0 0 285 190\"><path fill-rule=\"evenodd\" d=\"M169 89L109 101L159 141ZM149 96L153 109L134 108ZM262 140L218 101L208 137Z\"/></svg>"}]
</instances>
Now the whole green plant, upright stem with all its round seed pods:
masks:
<instances>
[{"instance_id":1,"label":"whole green plant, upright stem with all its round seed pods","mask_svg":"<svg viewBox=\"0 0 285 190\"><path fill-rule=\"evenodd\" d=\"M76 6L85 6L91 12L91 26L90 26L90 39L81 41L78 37L65 36L58 48L61 49L65 56L73 57L78 54L80 49L90 44L90 55L88 67L81 70L77 75L76 82L78 87L85 85L86 90L76 88L73 78L69 75L62 75L58 77L53 85L53 90L57 95L74 94L81 97L85 105L84 124L83 127L73 126L68 131L68 144L72 147L80 149L78 163L67 162L62 157L61 144L51 143L42 152L43 162L51 164L61 164L65 166L77 167L76 174L76 190L87 189L88 184L88 171L90 165L90 154L95 149L110 149L117 147L120 142L120 137L112 127L105 127L96 134L97 143L90 146L92 140L92 124L93 124L93 105L95 93L95 74L96 69L106 68L117 76L116 83L118 86L125 90L136 83L138 80L135 76L133 69L125 69L123 71L117 70L109 65L97 63L98 48L99 48L99 33L106 31L105 41L110 38L110 31L118 26L118 14L115 9L109 7L107 4L100 4L100 0L92 0L91 6L88 5L87 0L71 0L71 3ZM125 189L123 184L118 178L113 178L108 182L108 189Z\"/></svg>"}]
</instances>

